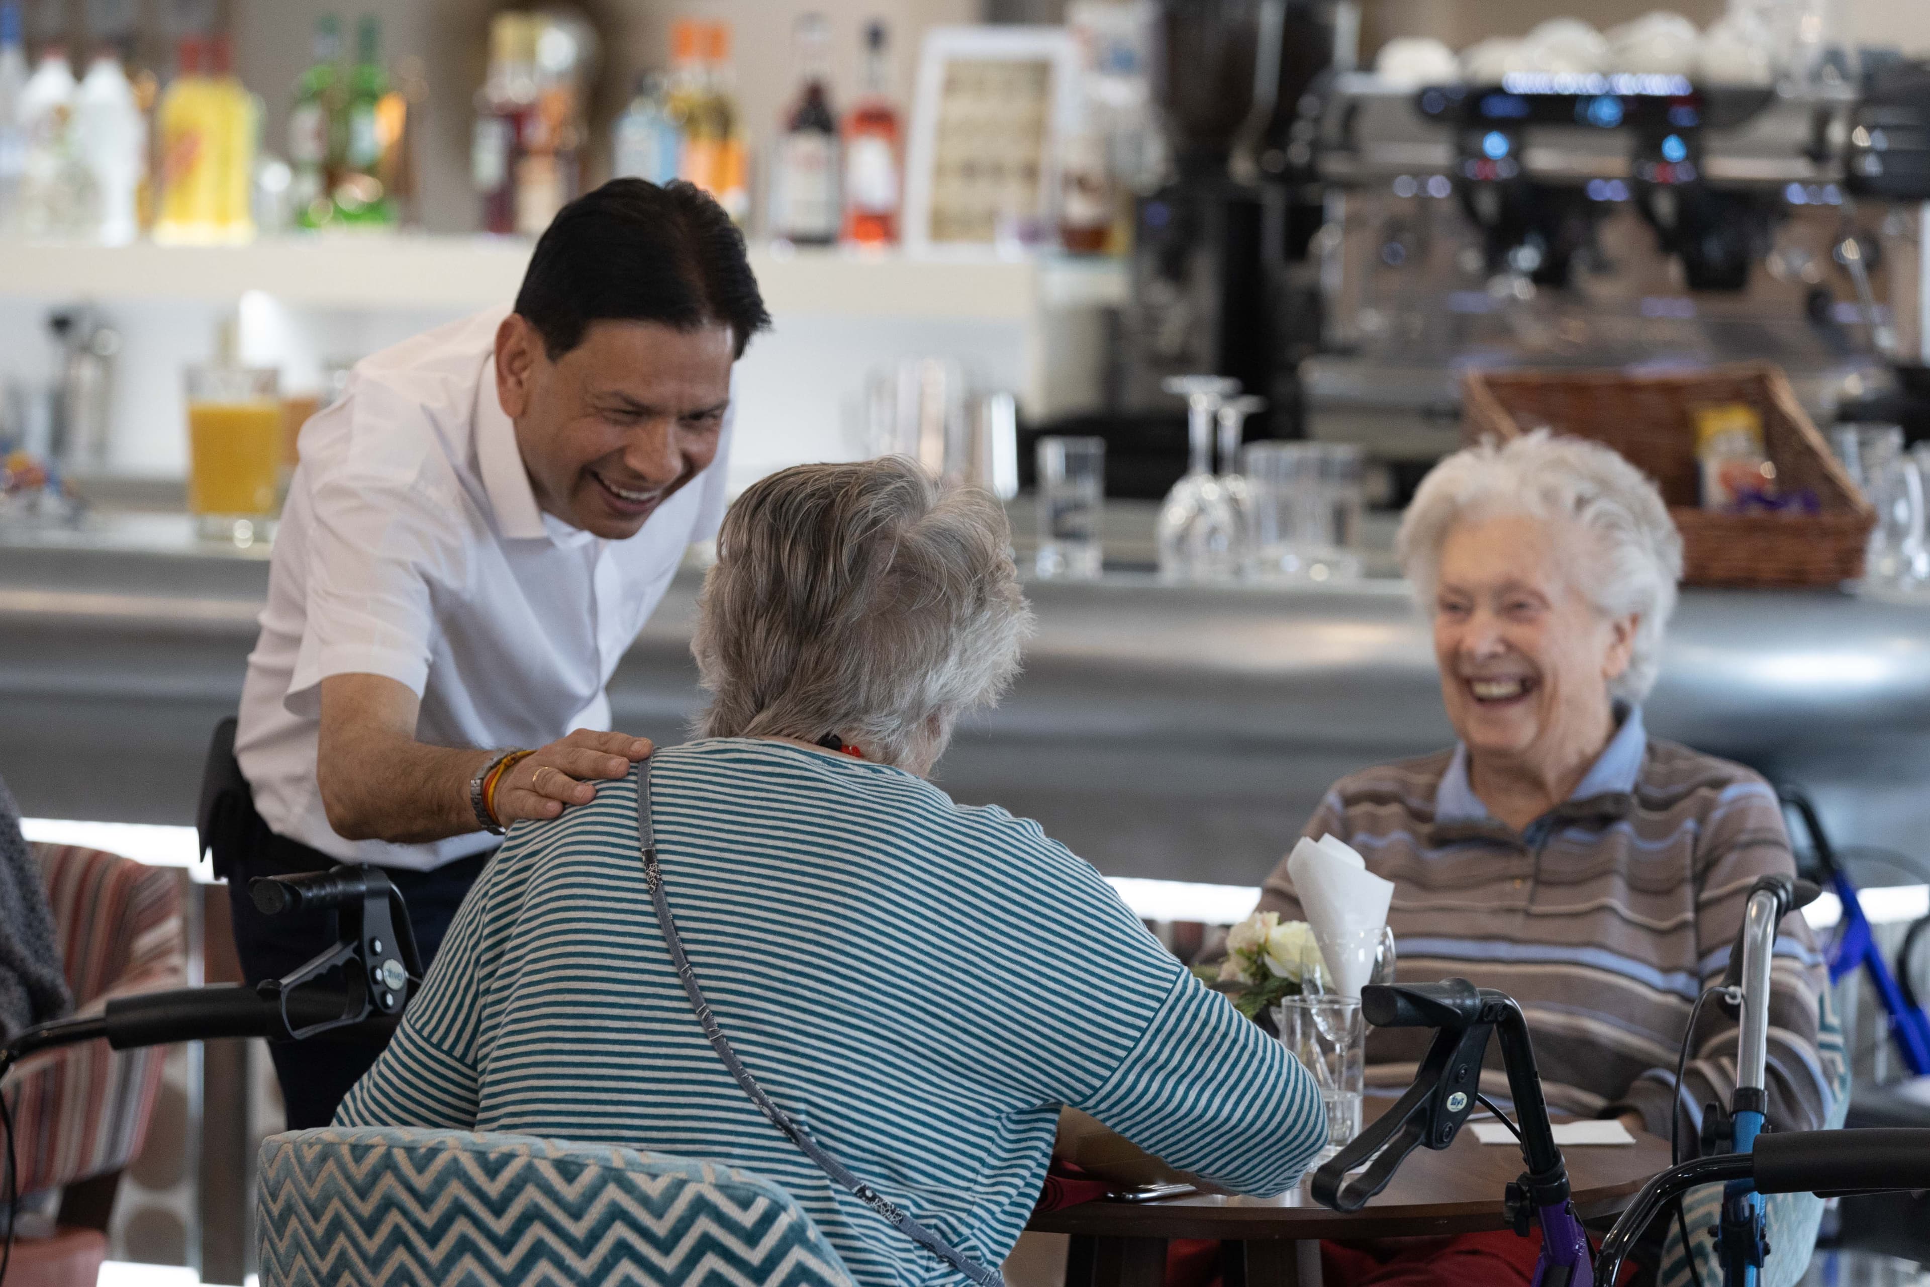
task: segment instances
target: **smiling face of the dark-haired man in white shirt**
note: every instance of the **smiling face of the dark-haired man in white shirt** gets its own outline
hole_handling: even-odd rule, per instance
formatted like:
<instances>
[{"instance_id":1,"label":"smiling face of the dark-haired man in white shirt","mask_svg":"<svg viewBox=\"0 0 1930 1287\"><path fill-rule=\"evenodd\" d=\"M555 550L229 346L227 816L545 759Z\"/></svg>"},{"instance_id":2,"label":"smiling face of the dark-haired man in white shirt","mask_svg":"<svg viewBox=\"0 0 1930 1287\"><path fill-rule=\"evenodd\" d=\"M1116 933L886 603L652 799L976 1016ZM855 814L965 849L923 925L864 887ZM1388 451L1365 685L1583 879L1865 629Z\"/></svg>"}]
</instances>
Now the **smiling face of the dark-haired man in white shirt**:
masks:
<instances>
[{"instance_id":1,"label":"smiling face of the dark-haired man in white shirt","mask_svg":"<svg viewBox=\"0 0 1930 1287\"><path fill-rule=\"evenodd\" d=\"M730 326L598 320L550 361L535 328L510 315L496 394L537 504L608 540L635 536L716 457L733 359Z\"/></svg>"}]
</instances>

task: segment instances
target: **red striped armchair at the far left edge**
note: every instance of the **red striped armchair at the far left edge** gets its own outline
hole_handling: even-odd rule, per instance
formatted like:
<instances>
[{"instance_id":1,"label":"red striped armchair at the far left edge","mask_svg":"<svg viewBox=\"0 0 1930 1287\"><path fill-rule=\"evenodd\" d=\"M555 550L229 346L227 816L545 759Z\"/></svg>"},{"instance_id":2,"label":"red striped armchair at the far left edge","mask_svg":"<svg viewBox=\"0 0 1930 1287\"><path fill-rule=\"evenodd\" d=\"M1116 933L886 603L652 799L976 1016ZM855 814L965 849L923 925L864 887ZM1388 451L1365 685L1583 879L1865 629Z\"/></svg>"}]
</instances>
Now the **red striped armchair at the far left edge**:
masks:
<instances>
[{"instance_id":1,"label":"red striped armchair at the far left edge","mask_svg":"<svg viewBox=\"0 0 1930 1287\"><path fill-rule=\"evenodd\" d=\"M179 988L187 969L181 878L98 849L33 845L77 1015L112 998ZM31 1055L6 1081L19 1192L120 1171L147 1138L166 1050L104 1040Z\"/></svg>"}]
</instances>

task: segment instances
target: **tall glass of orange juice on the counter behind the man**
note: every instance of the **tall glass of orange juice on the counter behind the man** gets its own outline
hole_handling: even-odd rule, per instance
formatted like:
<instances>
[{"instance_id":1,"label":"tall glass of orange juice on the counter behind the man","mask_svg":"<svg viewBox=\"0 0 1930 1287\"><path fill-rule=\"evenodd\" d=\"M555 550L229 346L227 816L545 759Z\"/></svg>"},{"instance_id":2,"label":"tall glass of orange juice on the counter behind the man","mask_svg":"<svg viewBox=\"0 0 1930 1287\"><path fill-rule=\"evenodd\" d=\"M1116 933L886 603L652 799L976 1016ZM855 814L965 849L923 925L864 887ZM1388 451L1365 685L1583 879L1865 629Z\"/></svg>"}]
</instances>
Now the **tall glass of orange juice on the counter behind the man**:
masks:
<instances>
[{"instance_id":1,"label":"tall glass of orange juice on the counter behind the man","mask_svg":"<svg viewBox=\"0 0 1930 1287\"><path fill-rule=\"evenodd\" d=\"M282 469L278 376L259 367L187 369L187 511L203 536L264 536Z\"/></svg>"}]
</instances>

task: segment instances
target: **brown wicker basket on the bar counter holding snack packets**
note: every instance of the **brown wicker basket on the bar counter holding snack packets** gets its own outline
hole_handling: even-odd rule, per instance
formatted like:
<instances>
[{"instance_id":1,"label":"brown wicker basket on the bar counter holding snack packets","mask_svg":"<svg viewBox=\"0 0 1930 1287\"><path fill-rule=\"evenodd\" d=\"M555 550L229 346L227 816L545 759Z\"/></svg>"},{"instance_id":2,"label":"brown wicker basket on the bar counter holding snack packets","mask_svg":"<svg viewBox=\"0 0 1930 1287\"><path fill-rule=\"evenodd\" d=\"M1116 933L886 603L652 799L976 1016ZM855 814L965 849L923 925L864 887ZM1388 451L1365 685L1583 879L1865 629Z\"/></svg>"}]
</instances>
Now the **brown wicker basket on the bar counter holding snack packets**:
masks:
<instances>
[{"instance_id":1,"label":"brown wicker basket on the bar counter holding snack packets","mask_svg":"<svg viewBox=\"0 0 1930 1287\"><path fill-rule=\"evenodd\" d=\"M1810 490L1822 513L1710 513L1700 507L1693 407L1749 403L1778 480ZM1463 386L1469 442L1548 426L1621 452L1662 488L1683 534L1685 585L1814 587L1862 575L1876 511L1768 363L1708 370L1475 370Z\"/></svg>"}]
</instances>

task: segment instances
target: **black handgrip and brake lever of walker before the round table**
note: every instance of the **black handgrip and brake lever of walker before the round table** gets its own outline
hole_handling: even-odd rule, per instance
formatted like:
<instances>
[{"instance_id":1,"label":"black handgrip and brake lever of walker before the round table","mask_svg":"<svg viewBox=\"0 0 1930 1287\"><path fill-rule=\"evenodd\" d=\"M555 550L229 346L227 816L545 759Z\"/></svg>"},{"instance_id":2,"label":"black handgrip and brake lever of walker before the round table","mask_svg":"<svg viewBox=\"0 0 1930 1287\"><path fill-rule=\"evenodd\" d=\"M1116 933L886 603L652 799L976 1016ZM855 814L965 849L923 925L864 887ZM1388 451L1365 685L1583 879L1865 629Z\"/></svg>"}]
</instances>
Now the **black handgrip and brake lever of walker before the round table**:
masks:
<instances>
[{"instance_id":1,"label":"black handgrip and brake lever of walker before the round table","mask_svg":"<svg viewBox=\"0 0 1930 1287\"><path fill-rule=\"evenodd\" d=\"M1374 996L1370 996L1374 994ZM1469 1021L1478 1013L1478 992L1463 978L1405 988L1363 988L1361 1005L1368 1019L1376 1013L1390 1023L1376 1027L1438 1027L1434 1044L1420 1063L1415 1084L1361 1131L1351 1144L1314 1171L1314 1202L1336 1212L1357 1212L1393 1179L1415 1148L1442 1150L1453 1144L1461 1123L1475 1111L1480 1088L1480 1061L1488 1054L1492 1023ZM1366 1173L1341 1185L1349 1171Z\"/></svg>"}]
</instances>

